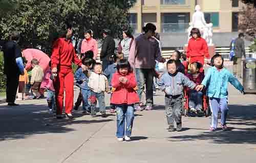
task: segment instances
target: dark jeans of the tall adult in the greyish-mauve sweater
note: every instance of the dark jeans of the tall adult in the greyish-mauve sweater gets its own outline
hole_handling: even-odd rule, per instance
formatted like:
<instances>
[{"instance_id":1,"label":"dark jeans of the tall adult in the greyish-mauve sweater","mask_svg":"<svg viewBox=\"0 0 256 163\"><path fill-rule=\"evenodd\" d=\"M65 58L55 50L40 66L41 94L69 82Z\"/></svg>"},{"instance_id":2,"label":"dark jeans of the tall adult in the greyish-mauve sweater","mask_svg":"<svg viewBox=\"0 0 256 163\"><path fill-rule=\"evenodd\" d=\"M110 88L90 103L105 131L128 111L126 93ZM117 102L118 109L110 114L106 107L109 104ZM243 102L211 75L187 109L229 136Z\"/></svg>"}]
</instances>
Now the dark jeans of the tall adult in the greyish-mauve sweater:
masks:
<instances>
[{"instance_id":1,"label":"dark jeans of the tall adult in the greyish-mauve sweater","mask_svg":"<svg viewBox=\"0 0 256 163\"><path fill-rule=\"evenodd\" d=\"M137 94L142 104L142 92L146 85L146 106L153 106L153 78L154 69L135 68L135 75L138 84Z\"/></svg>"}]
</instances>

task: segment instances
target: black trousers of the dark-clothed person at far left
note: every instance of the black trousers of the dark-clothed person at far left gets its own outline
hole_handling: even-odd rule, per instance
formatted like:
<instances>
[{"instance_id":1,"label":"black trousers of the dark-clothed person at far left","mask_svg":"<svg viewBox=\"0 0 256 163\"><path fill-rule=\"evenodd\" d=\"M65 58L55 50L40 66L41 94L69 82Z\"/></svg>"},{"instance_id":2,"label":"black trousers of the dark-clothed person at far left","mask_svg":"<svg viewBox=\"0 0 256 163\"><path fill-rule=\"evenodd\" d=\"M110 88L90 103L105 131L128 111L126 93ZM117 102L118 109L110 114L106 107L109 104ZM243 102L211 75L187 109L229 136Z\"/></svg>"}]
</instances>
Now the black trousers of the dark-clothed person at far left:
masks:
<instances>
[{"instance_id":1,"label":"black trousers of the dark-clothed person at far left","mask_svg":"<svg viewBox=\"0 0 256 163\"><path fill-rule=\"evenodd\" d=\"M19 74L7 74L6 77L6 102L14 103L18 89Z\"/></svg>"}]
</instances>

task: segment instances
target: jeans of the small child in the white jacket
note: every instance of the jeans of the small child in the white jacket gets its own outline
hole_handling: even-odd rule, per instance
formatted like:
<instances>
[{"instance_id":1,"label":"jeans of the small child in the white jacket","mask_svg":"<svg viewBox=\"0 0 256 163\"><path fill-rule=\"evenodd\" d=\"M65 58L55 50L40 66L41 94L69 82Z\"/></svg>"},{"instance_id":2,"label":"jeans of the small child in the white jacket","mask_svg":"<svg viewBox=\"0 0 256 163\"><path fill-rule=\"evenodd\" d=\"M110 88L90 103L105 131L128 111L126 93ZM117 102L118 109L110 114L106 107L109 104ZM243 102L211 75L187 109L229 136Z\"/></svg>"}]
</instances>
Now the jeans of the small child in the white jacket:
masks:
<instances>
[{"instance_id":1,"label":"jeans of the small child in the white jacket","mask_svg":"<svg viewBox=\"0 0 256 163\"><path fill-rule=\"evenodd\" d=\"M106 107L105 107L105 95L104 95L104 92L101 92L101 93L96 93L94 91L91 91L91 96L92 97L95 97L98 102L99 102L99 111L101 113L105 113L106 112ZM97 105L97 100L95 101L95 103L92 103L91 102L91 114L92 115L95 115L97 111L96 109L96 105Z\"/></svg>"}]
</instances>

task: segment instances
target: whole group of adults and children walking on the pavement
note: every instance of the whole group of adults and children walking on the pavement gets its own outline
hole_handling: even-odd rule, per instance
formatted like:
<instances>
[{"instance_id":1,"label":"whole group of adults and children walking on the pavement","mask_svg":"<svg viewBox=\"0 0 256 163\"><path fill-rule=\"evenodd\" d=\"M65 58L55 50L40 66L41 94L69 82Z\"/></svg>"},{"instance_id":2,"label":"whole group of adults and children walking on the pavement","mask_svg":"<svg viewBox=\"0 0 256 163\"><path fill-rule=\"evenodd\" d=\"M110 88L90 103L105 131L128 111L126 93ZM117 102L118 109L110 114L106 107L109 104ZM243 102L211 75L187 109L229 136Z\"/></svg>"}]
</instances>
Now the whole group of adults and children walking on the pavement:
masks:
<instances>
[{"instance_id":1,"label":"whole group of adults and children walking on the pavement","mask_svg":"<svg viewBox=\"0 0 256 163\"><path fill-rule=\"evenodd\" d=\"M71 42L73 28L67 24L66 33L54 41L51 58L40 60L38 57L26 57L28 54L20 50L17 41L18 33L12 34L12 41L4 46L5 74L7 75L7 102L14 103L19 75L24 75L26 69L32 67L30 84L35 98L40 98L41 88L48 91L48 105L56 109L56 118L62 119L63 99L65 94L65 114L73 118L74 77L80 88L80 96L75 104L77 110L81 101L83 111L95 117L100 112L106 117L104 102L105 92L111 94L111 112L116 112L118 141L131 141L134 111L151 110L154 105L153 79L158 78L157 84L165 93L165 114L168 131L182 130L181 108L184 86L189 91L189 108L193 112L202 110L202 91L210 99L213 118L210 130L217 129L218 112L221 110L221 125L226 127L227 84L230 82L243 92L240 82L223 66L224 59L216 54L209 59L206 41L201 38L198 29L191 30L186 56L175 51L166 63L163 73L159 73L156 64L164 63L161 56L159 37L156 26L147 24L143 34L134 38L127 30L123 31L123 40L118 44L115 54L115 41L110 36L111 31L103 30L103 43L100 62L96 62L98 53L97 41L93 39L93 31L84 32L85 39L81 41L81 54L77 55ZM27 58L24 69L22 57ZM181 62L183 58L183 62ZM44 62L44 65L42 63ZM47 64L46 64L47 63ZM79 66L75 75L72 63ZM211 64L204 77L203 65ZM12 67L12 71L10 70ZM143 105L142 94L145 89L146 103ZM99 109L96 108L97 102ZM52 111L52 110L51 110Z\"/></svg>"}]
</instances>

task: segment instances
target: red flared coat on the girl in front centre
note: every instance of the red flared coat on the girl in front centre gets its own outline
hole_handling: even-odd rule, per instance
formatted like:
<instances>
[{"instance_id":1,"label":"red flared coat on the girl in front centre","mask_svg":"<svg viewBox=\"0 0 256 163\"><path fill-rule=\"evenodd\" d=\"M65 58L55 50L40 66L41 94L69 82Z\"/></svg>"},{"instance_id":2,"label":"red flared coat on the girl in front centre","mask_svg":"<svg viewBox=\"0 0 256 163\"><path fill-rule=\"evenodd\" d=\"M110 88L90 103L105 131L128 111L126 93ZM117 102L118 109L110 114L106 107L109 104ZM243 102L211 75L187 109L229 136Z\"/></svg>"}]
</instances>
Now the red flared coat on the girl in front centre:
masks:
<instances>
[{"instance_id":1,"label":"red flared coat on the girl in front centre","mask_svg":"<svg viewBox=\"0 0 256 163\"><path fill-rule=\"evenodd\" d=\"M127 78L127 83L122 84L119 82L119 78L122 77L118 72L113 75L111 84L112 87L115 88L115 91L111 97L111 104L114 105L122 105L127 104L131 105L134 103L138 103L139 97L135 88L137 86L137 82L135 80L135 75L133 73L129 73L125 76Z\"/></svg>"}]
</instances>

